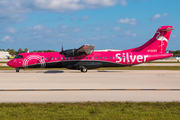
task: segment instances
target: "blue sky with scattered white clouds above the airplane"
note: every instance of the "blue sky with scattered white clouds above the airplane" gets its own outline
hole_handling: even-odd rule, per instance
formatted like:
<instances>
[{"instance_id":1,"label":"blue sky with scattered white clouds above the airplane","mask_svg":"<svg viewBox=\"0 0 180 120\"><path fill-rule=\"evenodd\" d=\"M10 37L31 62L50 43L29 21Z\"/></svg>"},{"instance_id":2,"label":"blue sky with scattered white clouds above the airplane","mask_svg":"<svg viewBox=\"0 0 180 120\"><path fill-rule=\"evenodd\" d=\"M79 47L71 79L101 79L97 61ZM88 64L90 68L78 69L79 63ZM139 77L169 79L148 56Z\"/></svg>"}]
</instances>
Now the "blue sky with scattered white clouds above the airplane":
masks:
<instances>
[{"instance_id":1,"label":"blue sky with scattered white clouds above the airplane","mask_svg":"<svg viewBox=\"0 0 180 120\"><path fill-rule=\"evenodd\" d=\"M172 25L168 50L180 50L180 0L0 0L0 49L56 50L84 44L138 47Z\"/></svg>"}]
</instances>

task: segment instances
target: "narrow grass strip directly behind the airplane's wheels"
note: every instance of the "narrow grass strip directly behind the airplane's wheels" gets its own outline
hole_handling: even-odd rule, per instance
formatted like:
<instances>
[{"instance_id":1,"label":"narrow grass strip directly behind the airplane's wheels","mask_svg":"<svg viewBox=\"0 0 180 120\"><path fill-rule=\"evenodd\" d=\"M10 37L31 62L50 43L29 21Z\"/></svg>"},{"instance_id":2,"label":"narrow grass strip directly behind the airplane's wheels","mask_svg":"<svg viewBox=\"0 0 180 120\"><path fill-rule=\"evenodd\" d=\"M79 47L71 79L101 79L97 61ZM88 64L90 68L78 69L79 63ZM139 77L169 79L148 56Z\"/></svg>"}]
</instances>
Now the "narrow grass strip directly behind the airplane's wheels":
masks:
<instances>
[{"instance_id":1,"label":"narrow grass strip directly behind the airplane's wheels","mask_svg":"<svg viewBox=\"0 0 180 120\"><path fill-rule=\"evenodd\" d=\"M8 66L0 66L0 70L15 70ZM66 68L33 68L27 70L68 70ZM180 66L131 66L131 67L102 67L94 70L180 70Z\"/></svg>"}]
</instances>

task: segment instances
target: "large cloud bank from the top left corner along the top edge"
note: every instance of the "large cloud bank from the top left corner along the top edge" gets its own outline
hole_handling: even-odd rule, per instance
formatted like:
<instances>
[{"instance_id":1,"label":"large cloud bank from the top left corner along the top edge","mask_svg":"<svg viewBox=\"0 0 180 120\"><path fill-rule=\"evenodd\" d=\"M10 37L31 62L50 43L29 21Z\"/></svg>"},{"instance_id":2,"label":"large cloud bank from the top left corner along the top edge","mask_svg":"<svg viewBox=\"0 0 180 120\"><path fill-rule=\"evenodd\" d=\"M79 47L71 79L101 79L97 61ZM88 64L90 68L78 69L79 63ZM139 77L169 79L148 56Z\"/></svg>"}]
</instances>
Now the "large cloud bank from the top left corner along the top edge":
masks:
<instances>
[{"instance_id":1,"label":"large cloud bank from the top left corner along the top edge","mask_svg":"<svg viewBox=\"0 0 180 120\"><path fill-rule=\"evenodd\" d=\"M32 11L62 13L109 7L116 4L126 6L127 0L0 0L0 23L23 22L27 14Z\"/></svg>"}]
</instances>

